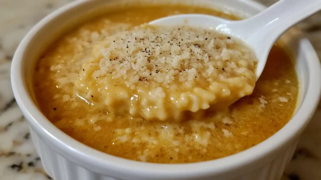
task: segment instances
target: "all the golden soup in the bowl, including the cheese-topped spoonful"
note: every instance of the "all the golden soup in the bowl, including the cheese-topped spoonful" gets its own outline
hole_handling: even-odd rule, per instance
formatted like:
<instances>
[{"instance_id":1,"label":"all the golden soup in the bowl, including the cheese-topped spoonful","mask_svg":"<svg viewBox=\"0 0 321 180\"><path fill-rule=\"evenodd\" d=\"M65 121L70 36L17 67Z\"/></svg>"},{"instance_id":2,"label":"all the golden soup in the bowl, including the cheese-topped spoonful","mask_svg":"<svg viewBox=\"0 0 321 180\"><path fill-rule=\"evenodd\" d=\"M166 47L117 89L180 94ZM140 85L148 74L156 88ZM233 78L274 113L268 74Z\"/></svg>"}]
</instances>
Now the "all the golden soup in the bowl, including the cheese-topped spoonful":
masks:
<instances>
[{"instance_id":1,"label":"all the golden soup in the bowl, including the cheese-topped spoonful","mask_svg":"<svg viewBox=\"0 0 321 180\"><path fill-rule=\"evenodd\" d=\"M285 50L272 48L255 82L256 58L237 39L144 25L181 13L239 19L183 4L109 11L58 39L39 59L34 91L40 110L92 148L156 163L225 157L280 130L298 97Z\"/></svg>"}]
</instances>

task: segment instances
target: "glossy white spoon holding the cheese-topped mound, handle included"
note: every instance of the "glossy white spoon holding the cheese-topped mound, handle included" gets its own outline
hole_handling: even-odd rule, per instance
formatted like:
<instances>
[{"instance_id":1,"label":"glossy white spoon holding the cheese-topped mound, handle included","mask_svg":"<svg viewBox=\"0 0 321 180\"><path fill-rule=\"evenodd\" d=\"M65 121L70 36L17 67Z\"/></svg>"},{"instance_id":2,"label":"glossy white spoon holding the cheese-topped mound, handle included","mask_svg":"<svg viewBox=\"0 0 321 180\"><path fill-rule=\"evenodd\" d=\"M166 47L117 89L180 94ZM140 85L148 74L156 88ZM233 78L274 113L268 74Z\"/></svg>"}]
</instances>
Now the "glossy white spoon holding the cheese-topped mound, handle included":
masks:
<instances>
[{"instance_id":1,"label":"glossy white spoon holding the cheese-topped mound, handle included","mask_svg":"<svg viewBox=\"0 0 321 180\"><path fill-rule=\"evenodd\" d=\"M293 25L320 10L321 0L280 0L265 11L241 21L203 14L182 14L160 18L149 24L210 28L244 40L258 59L257 80L275 41Z\"/></svg>"}]
</instances>

